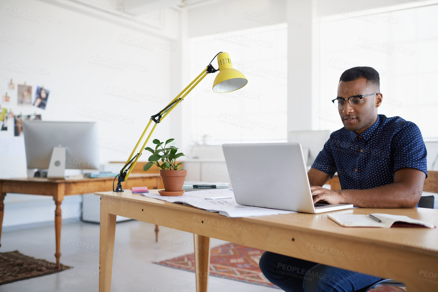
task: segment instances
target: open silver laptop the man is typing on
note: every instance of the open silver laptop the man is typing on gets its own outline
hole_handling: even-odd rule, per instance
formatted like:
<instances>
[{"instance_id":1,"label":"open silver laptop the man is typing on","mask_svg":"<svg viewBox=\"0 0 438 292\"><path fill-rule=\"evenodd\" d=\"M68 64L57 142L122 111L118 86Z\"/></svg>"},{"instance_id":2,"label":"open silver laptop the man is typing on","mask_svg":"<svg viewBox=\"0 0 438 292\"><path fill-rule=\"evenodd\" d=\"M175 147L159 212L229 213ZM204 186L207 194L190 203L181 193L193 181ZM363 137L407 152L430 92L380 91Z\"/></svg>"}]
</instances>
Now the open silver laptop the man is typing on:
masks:
<instances>
[{"instance_id":1,"label":"open silver laptop the man is typing on","mask_svg":"<svg viewBox=\"0 0 438 292\"><path fill-rule=\"evenodd\" d=\"M353 204L313 204L299 143L222 144L236 202L304 213L353 208Z\"/></svg>"}]
</instances>

